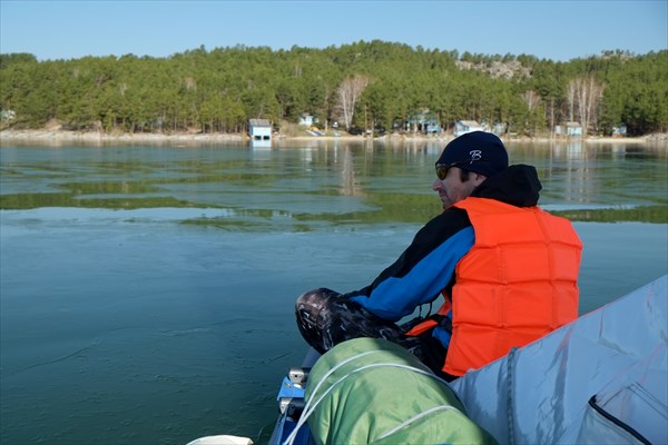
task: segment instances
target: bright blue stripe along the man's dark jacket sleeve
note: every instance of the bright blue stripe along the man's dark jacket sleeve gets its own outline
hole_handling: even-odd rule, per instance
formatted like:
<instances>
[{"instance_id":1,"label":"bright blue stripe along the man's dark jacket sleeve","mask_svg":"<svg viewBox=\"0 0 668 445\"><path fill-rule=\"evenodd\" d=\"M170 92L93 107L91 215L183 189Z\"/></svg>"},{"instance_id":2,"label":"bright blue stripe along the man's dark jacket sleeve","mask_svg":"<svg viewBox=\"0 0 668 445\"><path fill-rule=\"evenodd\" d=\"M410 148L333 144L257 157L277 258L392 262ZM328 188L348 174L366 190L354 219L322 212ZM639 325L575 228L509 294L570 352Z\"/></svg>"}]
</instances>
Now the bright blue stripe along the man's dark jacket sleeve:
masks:
<instances>
[{"instance_id":1,"label":"bright blue stripe along the man's dark jacket sleeve","mask_svg":"<svg viewBox=\"0 0 668 445\"><path fill-rule=\"evenodd\" d=\"M474 241L473 227L466 227L428 254L405 276L385 279L369 297L351 299L381 318L396 322L430 303L450 283L454 267Z\"/></svg>"}]
</instances>

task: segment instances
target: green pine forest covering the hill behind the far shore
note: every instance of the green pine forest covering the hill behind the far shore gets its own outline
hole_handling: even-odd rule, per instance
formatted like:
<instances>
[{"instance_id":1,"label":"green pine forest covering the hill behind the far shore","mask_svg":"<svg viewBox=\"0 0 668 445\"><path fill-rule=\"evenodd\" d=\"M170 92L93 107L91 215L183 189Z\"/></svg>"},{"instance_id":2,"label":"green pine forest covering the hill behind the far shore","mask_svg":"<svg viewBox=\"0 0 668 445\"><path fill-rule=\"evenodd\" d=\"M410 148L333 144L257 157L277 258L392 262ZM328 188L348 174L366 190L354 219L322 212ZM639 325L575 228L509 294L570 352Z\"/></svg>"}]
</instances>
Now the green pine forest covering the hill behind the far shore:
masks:
<instances>
[{"instance_id":1,"label":"green pine forest covering the hill behind the far shore","mask_svg":"<svg viewBox=\"0 0 668 445\"><path fill-rule=\"evenodd\" d=\"M578 122L587 135L668 131L668 50L567 62L360 41L324 49L204 46L166 58L38 61L0 55L0 129L247 131L308 113L321 130L450 131L475 120L538 136ZM429 123L429 125L428 125Z\"/></svg>"}]
</instances>

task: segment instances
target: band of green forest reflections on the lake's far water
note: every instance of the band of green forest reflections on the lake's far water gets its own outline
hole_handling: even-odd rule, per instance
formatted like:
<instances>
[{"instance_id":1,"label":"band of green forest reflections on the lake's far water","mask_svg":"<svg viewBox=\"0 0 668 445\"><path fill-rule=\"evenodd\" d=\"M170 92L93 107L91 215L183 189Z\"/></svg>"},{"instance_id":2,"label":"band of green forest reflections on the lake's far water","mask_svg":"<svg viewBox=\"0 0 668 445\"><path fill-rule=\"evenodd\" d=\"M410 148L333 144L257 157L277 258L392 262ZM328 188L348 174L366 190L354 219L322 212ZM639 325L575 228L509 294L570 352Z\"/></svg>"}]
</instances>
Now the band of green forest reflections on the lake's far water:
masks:
<instances>
[{"instance_id":1,"label":"band of green forest reflections on the lake's far water","mask_svg":"<svg viewBox=\"0 0 668 445\"><path fill-rule=\"evenodd\" d=\"M436 140L272 144L3 147L0 208L234 207L320 216L367 211L366 221L374 215L376 221L386 221L387 208L413 198L422 207L426 200L421 197L433 196L431 166L442 145ZM538 168L543 205L563 208L570 202L573 208L593 209L666 205L666 149L556 142L510 144L509 150L514 164ZM429 211L435 209L433 202ZM415 220L409 212L392 218Z\"/></svg>"}]
</instances>

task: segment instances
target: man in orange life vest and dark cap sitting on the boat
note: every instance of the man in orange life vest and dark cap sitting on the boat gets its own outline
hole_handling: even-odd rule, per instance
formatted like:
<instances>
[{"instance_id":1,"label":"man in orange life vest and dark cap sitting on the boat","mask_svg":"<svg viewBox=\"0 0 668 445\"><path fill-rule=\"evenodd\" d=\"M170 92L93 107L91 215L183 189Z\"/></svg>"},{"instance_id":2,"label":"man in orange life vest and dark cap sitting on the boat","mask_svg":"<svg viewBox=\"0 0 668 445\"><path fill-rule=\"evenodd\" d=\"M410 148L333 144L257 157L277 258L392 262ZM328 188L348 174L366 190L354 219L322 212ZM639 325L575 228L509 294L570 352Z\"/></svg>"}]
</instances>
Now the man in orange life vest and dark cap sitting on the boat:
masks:
<instances>
[{"instance_id":1,"label":"man in orange life vest and dark cap sitting on the boat","mask_svg":"<svg viewBox=\"0 0 668 445\"><path fill-rule=\"evenodd\" d=\"M509 167L501 139L474 131L445 147L436 176L443 212L371 285L297 298L299 332L321 354L385 338L452 379L577 318L582 244L537 206L536 168ZM396 325L440 295L435 314Z\"/></svg>"}]
</instances>

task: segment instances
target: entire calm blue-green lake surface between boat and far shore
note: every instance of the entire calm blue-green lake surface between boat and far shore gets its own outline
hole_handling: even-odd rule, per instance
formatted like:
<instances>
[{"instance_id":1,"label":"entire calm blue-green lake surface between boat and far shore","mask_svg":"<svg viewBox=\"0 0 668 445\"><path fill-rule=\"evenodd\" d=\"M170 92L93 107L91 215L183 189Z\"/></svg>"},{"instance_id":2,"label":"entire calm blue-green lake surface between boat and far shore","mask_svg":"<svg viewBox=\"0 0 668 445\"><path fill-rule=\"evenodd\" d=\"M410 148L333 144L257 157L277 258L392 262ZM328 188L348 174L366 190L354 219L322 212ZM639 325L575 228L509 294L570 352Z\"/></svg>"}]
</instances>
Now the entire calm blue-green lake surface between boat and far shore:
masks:
<instances>
[{"instance_id":1,"label":"entire calm blue-green lake surface between boat and far shore","mask_svg":"<svg viewBox=\"0 0 668 445\"><path fill-rule=\"evenodd\" d=\"M440 211L441 149L2 147L2 442L256 438L305 350L294 298L360 288L401 254ZM546 208L622 221L576 222L581 313L666 273L666 150L509 150Z\"/></svg>"}]
</instances>

